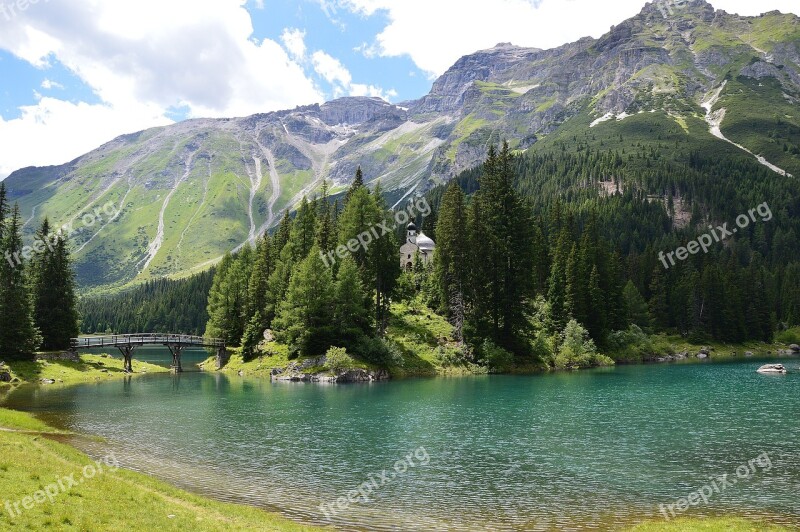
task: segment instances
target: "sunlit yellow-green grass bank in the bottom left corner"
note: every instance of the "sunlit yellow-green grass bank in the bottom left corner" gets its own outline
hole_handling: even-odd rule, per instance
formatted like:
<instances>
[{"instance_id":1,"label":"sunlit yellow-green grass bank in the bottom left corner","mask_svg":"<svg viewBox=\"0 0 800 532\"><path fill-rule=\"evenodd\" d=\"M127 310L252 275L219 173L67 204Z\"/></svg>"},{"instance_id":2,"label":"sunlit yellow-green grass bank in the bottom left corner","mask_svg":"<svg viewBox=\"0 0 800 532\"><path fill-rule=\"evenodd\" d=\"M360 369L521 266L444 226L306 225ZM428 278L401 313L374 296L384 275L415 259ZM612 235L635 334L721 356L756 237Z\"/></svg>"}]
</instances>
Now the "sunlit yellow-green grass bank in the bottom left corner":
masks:
<instances>
[{"instance_id":1,"label":"sunlit yellow-green grass bank in the bottom left corner","mask_svg":"<svg viewBox=\"0 0 800 532\"><path fill-rule=\"evenodd\" d=\"M0 428L55 432L28 414L5 409L0 409ZM68 445L39 434L0 430L0 530L319 530L107 464L101 473L84 478L84 468L92 464L99 471L99 465ZM77 485L66 481L70 476ZM45 496L47 488L52 501Z\"/></svg>"}]
</instances>

